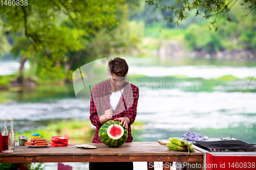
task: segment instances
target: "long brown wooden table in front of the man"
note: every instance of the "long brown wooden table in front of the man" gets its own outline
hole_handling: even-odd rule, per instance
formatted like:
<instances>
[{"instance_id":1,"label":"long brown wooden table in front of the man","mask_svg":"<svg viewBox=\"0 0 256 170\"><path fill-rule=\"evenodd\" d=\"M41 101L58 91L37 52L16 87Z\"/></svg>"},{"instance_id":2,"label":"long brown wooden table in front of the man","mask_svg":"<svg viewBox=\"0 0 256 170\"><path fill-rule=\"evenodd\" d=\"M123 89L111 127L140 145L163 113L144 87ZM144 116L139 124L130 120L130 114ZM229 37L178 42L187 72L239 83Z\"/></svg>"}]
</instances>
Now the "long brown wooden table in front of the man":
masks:
<instances>
[{"instance_id":1,"label":"long brown wooden table in front of the man","mask_svg":"<svg viewBox=\"0 0 256 170\"><path fill-rule=\"evenodd\" d=\"M186 157L186 152L169 151L166 145L158 142L124 143L118 148L109 148L103 143L89 143L96 149L68 147L29 148L18 146L11 154L0 153L0 163L32 162L202 162L203 154L196 151ZM152 166L152 165L151 165ZM164 168L170 169L170 168Z\"/></svg>"}]
</instances>

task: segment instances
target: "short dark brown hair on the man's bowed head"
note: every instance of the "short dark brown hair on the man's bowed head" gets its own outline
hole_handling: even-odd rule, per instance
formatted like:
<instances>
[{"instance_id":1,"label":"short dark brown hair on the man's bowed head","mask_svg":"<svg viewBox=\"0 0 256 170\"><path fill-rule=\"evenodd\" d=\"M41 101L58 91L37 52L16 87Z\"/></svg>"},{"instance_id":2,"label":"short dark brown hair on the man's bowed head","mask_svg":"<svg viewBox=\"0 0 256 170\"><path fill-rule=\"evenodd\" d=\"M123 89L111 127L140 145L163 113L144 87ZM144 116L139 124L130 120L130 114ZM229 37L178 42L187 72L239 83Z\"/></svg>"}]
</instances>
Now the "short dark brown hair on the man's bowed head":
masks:
<instances>
[{"instance_id":1,"label":"short dark brown hair on the man's bowed head","mask_svg":"<svg viewBox=\"0 0 256 170\"><path fill-rule=\"evenodd\" d=\"M113 60L110 59L108 71L111 74L116 74L120 77L125 77L128 73L129 66L126 61L120 57L116 57Z\"/></svg>"}]
</instances>

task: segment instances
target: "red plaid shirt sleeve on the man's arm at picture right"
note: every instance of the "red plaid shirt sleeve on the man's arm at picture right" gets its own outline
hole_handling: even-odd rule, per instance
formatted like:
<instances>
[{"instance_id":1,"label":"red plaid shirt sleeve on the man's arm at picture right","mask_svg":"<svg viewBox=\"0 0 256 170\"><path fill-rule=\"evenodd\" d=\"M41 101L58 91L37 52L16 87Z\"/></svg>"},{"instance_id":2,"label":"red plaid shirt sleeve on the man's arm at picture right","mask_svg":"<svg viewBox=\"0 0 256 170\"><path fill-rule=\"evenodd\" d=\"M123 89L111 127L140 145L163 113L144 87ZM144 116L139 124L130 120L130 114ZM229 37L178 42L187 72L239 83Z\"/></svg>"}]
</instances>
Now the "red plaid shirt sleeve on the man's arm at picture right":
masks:
<instances>
[{"instance_id":1,"label":"red plaid shirt sleeve on the man's arm at picture right","mask_svg":"<svg viewBox=\"0 0 256 170\"><path fill-rule=\"evenodd\" d=\"M135 117L137 115L138 99L139 99L139 88L135 86L135 88L133 89L133 104L130 108L127 108L124 113L124 117L129 117L131 120L129 126L131 126L134 123Z\"/></svg>"}]
</instances>

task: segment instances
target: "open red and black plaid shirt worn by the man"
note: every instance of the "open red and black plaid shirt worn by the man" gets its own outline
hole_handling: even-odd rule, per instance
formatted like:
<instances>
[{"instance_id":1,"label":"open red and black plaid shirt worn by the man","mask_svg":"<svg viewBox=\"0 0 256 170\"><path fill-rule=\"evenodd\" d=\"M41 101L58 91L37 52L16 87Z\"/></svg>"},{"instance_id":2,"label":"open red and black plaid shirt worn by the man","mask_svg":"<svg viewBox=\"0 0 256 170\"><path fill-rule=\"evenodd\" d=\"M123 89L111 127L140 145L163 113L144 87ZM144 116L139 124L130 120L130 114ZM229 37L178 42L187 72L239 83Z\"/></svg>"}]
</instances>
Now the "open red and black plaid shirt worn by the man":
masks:
<instances>
[{"instance_id":1,"label":"open red and black plaid shirt worn by the man","mask_svg":"<svg viewBox=\"0 0 256 170\"><path fill-rule=\"evenodd\" d=\"M99 139L99 128L101 127L101 124L99 123L99 117L105 114L106 110L111 108L110 95L110 80L98 83L92 88L90 101L90 120L91 123L96 127L95 136L92 141L93 143L101 143ZM113 120L119 117L129 117L131 120L127 129L128 137L126 142L133 141L131 125L134 123L135 117L137 115L138 98L139 88L131 83L125 82L123 94L116 106L116 110L113 110Z\"/></svg>"}]
</instances>

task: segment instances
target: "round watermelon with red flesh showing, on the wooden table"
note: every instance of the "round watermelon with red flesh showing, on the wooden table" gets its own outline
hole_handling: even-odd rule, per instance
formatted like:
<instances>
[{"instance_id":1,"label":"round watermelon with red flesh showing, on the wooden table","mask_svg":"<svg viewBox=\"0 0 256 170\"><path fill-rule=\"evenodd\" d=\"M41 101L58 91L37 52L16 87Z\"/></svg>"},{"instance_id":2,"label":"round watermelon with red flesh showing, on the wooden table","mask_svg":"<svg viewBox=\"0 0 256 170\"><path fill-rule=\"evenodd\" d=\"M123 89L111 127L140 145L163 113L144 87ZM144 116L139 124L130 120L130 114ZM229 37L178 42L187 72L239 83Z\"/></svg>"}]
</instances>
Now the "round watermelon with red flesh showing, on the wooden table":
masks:
<instances>
[{"instance_id":1,"label":"round watermelon with red flesh showing, on the wooden table","mask_svg":"<svg viewBox=\"0 0 256 170\"><path fill-rule=\"evenodd\" d=\"M119 121L110 120L99 129L99 138L109 147L120 147L127 139L128 132Z\"/></svg>"}]
</instances>

